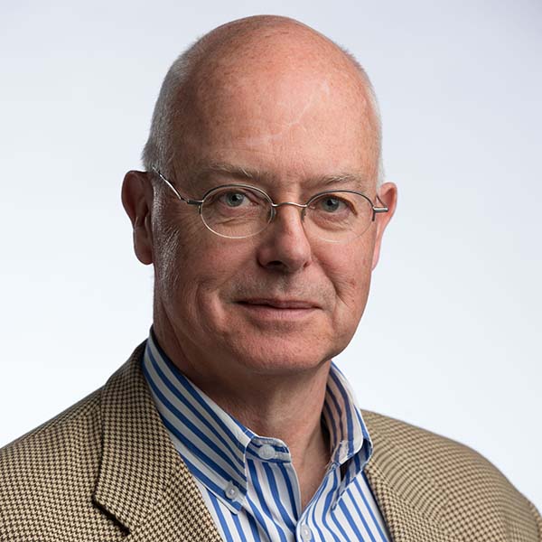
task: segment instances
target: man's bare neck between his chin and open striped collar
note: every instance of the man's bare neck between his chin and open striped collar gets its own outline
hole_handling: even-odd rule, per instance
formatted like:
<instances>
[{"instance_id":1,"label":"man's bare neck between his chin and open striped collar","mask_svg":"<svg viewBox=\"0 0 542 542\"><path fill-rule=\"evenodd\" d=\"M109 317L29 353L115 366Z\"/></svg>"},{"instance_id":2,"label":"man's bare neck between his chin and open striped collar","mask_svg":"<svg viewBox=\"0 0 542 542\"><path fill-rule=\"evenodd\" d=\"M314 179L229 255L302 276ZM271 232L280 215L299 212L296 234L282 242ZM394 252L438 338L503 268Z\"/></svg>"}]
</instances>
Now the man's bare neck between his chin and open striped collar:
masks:
<instances>
[{"instance_id":1,"label":"man's bare neck between his chin and open striped collar","mask_svg":"<svg viewBox=\"0 0 542 542\"><path fill-rule=\"evenodd\" d=\"M156 324L154 333L177 368L224 411L257 435L280 439L288 446L304 508L330 461L322 407L331 361L285 374L250 373L234 367L208 371L202 369L205 363L190 360L172 333Z\"/></svg>"}]
</instances>

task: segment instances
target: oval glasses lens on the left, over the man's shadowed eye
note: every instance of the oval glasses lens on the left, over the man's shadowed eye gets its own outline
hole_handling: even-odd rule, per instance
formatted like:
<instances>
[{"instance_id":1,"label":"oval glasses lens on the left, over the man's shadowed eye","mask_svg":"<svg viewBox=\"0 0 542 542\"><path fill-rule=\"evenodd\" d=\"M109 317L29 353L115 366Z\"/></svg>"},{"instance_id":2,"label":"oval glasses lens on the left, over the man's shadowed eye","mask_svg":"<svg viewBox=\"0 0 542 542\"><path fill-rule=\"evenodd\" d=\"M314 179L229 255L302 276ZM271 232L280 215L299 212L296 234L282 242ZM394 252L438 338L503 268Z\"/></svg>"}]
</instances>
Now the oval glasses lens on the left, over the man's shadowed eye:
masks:
<instances>
[{"instance_id":1,"label":"oval glasses lens on the left, over the man's shadowed eye","mask_svg":"<svg viewBox=\"0 0 542 542\"><path fill-rule=\"evenodd\" d=\"M271 220L271 202L264 192L253 188L220 186L205 197L201 219L222 237L246 238L266 228Z\"/></svg>"}]
</instances>

